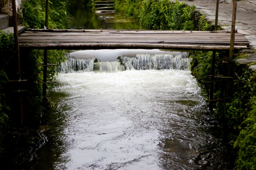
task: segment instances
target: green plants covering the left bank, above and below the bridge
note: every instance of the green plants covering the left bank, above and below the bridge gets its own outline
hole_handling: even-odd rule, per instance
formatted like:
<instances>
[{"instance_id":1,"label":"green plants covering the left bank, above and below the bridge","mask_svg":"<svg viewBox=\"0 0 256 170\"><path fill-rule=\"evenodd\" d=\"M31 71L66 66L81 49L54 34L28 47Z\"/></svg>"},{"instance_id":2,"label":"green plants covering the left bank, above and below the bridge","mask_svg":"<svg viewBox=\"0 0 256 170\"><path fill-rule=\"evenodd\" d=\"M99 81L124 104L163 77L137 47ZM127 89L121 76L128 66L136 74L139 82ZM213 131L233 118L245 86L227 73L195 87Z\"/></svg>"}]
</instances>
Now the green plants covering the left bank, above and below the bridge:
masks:
<instances>
[{"instance_id":1,"label":"green plants covering the left bank, above and below the bridge","mask_svg":"<svg viewBox=\"0 0 256 170\"><path fill-rule=\"evenodd\" d=\"M67 12L68 0L49 1L49 28L69 28L70 15ZM29 28L42 29L45 22L45 1L26 0L23 2L23 24ZM44 102L42 96L43 50L20 50L21 77L28 79L26 84L9 85L6 81L18 80L18 66L14 51L13 34L0 32L0 153L3 148L19 143L34 143L41 136L33 128L39 125L43 114ZM55 81L58 74L56 68L65 60L66 50L48 50L47 81ZM48 88L52 84L47 84ZM20 126L19 89L26 90L23 94L24 123ZM10 91L15 91L10 93ZM17 92L16 92L17 91ZM29 133L28 133L29 132ZM16 137L16 138L15 138Z\"/></svg>"}]
</instances>

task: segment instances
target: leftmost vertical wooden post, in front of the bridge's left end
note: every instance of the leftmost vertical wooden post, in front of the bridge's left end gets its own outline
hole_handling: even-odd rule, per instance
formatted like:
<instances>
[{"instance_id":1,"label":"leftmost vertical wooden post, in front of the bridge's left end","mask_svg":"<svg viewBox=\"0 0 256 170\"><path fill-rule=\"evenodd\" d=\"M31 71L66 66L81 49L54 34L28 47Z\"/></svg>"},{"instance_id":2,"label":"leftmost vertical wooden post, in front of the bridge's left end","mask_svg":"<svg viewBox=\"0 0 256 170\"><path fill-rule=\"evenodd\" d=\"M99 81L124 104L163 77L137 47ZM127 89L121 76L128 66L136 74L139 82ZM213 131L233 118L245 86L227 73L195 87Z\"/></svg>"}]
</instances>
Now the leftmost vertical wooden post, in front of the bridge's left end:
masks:
<instances>
[{"instance_id":1,"label":"leftmost vertical wooden post, in front of the bridge's left end","mask_svg":"<svg viewBox=\"0 0 256 170\"><path fill-rule=\"evenodd\" d=\"M14 47L15 47L16 57L18 60L18 75L19 75L19 78L21 79L20 47L19 47L16 1L12 0L11 3L12 3L12 19L13 19L13 31L14 31ZM21 124L23 124L24 112L23 112L23 97L21 94L20 94L19 100L20 100Z\"/></svg>"}]
</instances>

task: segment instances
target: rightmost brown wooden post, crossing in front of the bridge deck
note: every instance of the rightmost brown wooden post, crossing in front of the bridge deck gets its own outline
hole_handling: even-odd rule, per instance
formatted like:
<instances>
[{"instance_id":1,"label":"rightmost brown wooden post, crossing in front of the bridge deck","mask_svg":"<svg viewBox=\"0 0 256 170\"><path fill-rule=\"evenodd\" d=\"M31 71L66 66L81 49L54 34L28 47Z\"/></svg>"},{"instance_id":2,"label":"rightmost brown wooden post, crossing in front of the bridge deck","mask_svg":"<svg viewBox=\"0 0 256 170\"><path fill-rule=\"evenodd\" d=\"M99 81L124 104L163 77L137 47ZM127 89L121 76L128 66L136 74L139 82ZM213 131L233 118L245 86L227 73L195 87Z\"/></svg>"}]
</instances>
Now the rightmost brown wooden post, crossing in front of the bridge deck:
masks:
<instances>
[{"instance_id":1,"label":"rightmost brown wooden post, crossing in front of the bridge deck","mask_svg":"<svg viewBox=\"0 0 256 170\"><path fill-rule=\"evenodd\" d=\"M231 23L231 35L230 35L230 52L229 52L229 58L234 58L234 44L235 44L235 20L236 20L236 8L237 8L237 0L233 0L233 13L232 13L232 23ZM229 77L233 76L233 67L232 63L229 63ZM227 87L227 95L228 97L231 96L231 89L232 89L232 81L228 81L228 87Z\"/></svg>"}]
</instances>

